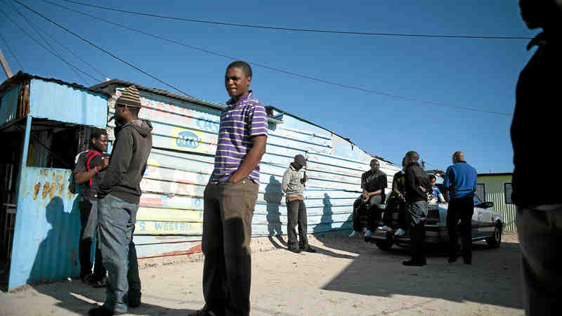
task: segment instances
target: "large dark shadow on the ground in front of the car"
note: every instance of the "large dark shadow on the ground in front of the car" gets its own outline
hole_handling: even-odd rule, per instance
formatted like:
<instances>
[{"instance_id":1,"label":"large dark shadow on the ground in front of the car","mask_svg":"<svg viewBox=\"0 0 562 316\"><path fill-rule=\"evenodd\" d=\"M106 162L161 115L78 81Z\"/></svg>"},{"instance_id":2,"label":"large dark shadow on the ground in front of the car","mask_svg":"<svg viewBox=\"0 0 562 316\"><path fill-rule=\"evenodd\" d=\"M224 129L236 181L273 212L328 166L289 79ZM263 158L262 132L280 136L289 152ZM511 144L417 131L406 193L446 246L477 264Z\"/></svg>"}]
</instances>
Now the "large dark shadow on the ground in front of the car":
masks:
<instances>
[{"instance_id":1,"label":"large dark shadow on the ground in front of the car","mask_svg":"<svg viewBox=\"0 0 562 316\"><path fill-rule=\"evenodd\" d=\"M410 258L407 248L394 246L381 251L360 238L319 239L327 247L359 255L322 289L367 296L421 296L523 308L519 244L504 242L499 249L490 249L484 242L476 242L473 244L472 265L464 265L462 258L456 263L447 263L447 252L432 246L427 249L428 265L405 267L402 261Z\"/></svg>"}]
</instances>

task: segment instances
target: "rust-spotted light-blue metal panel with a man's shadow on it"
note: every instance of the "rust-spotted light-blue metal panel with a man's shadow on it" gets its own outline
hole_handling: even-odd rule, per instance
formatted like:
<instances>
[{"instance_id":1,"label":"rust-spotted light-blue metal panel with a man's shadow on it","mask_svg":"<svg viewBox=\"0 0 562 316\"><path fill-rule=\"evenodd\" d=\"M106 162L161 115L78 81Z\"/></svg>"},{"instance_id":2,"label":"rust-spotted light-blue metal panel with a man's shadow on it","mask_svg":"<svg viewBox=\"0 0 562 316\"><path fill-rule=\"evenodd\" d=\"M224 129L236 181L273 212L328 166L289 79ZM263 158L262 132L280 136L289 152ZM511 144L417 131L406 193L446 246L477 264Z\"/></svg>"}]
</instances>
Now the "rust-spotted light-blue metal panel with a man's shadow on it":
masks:
<instances>
[{"instance_id":1,"label":"rust-spotted light-blue metal panel with a man's shadow on it","mask_svg":"<svg viewBox=\"0 0 562 316\"><path fill-rule=\"evenodd\" d=\"M22 170L8 289L79 274L80 212L67 190L71 171Z\"/></svg>"}]
</instances>

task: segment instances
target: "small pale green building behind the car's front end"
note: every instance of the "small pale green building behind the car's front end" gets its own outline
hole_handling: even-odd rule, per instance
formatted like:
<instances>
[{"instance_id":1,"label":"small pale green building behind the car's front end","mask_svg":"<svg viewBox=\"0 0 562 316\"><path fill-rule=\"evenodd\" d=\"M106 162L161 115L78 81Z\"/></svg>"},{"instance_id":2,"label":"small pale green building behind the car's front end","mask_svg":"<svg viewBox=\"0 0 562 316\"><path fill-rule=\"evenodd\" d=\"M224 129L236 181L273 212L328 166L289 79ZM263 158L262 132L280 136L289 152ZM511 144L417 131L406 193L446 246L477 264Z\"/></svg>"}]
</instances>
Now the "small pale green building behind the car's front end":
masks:
<instances>
[{"instance_id":1,"label":"small pale green building behind the car's front end","mask_svg":"<svg viewBox=\"0 0 562 316\"><path fill-rule=\"evenodd\" d=\"M483 202L494 202L493 209L504 216L504 230L516 231L515 204L511 202L512 173L478 173L476 195Z\"/></svg>"}]
</instances>

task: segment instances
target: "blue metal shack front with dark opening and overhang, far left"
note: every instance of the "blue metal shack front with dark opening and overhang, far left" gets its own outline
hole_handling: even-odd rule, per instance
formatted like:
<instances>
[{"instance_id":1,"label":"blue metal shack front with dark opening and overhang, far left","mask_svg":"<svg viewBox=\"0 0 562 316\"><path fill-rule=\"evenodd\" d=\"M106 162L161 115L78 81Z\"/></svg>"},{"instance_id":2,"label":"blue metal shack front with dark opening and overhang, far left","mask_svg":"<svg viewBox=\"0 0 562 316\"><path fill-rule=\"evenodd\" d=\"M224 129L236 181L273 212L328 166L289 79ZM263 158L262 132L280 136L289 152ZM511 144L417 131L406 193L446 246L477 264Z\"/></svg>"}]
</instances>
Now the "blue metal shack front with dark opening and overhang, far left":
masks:
<instances>
[{"instance_id":1,"label":"blue metal shack front with dark opening and overhang, far left","mask_svg":"<svg viewBox=\"0 0 562 316\"><path fill-rule=\"evenodd\" d=\"M0 85L0 138L8 147L0 155L0 255L8 289L79 274L80 216L68 179L86 147L86 126L105 128L106 118L107 96L78 84L19 72Z\"/></svg>"}]
</instances>

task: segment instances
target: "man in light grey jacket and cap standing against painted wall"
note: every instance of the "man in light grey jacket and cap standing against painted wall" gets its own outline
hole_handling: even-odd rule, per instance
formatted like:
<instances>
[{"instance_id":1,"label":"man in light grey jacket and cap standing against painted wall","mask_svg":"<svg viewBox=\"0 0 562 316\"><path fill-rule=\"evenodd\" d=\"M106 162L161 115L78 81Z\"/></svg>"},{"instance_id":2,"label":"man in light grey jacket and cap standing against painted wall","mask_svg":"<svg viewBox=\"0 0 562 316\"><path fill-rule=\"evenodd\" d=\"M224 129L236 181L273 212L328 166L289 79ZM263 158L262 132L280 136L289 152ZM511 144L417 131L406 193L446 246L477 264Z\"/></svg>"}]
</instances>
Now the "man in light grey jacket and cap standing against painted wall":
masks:
<instances>
[{"instance_id":1,"label":"man in light grey jacket and cap standing against painted wall","mask_svg":"<svg viewBox=\"0 0 562 316\"><path fill-rule=\"evenodd\" d=\"M289 251L299 254L301 251L316 252L308 244L306 237L306 205L304 204L304 183L308 176L301 178L299 170L306 166L306 159L302 154L294 157L294 162L289 164L289 168L283 174L282 190L285 192L285 202L287 202L287 246ZM299 224L299 244L296 244L295 225Z\"/></svg>"}]
</instances>

